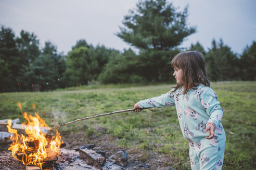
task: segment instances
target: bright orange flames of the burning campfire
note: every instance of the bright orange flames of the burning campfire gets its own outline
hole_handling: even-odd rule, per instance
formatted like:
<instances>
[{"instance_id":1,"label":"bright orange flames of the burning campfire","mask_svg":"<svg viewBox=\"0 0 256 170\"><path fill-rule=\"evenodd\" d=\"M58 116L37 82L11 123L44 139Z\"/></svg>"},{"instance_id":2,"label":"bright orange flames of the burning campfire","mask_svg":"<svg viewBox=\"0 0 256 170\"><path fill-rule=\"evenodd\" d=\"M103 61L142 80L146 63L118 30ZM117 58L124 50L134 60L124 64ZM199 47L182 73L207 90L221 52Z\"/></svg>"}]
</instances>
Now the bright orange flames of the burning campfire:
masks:
<instances>
[{"instance_id":1,"label":"bright orange flames of the burning campfire","mask_svg":"<svg viewBox=\"0 0 256 170\"><path fill-rule=\"evenodd\" d=\"M27 123L21 123L24 126L25 135L18 134L16 129L11 129L12 121L8 120L8 131L12 133L10 137L12 144L8 150L11 150L12 156L24 165L38 165L42 169L45 159L59 155L60 144L63 143L61 136L56 130L56 136L47 137L41 132L40 127L48 127L48 125L40 118L38 112L35 112L35 116L28 116L27 112L22 112L20 103L18 106L23 118L27 120ZM23 155L22 159L17 156L20 153Z\"/></svg>"}]
</instances>

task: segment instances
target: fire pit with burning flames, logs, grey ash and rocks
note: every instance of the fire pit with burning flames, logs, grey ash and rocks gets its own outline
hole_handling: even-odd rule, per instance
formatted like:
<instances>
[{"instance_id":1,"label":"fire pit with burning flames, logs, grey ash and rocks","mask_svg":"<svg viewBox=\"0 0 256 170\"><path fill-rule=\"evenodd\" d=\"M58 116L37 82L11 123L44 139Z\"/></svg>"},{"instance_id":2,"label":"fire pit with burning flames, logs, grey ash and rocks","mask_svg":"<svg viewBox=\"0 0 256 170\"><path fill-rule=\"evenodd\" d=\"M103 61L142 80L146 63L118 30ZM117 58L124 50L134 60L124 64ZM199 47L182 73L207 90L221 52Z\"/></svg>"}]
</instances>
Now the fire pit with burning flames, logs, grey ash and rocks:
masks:
<instances>
[{"instance_id":1,"label":"fire pit with burning flames, logs, grey ash and rocks","mask_svg":"<svg viewBox=\"0 0 256 170\"><path fill-rule=\"evenodd\" d=\"M28 116L27 112L22 111L20 103L18 103L18 106L27 123L15 124L14 122L12 124L12 120L8 120L7 128L11 134L9 138L12 141L8 150L11 150L11 154L9 152L0 153L0 169L2 167L5 169L18 168L25 170L126 169L123 167L127 165L127 154L124 151L120 151L117 155L107 158L105 151L92 150L95 147L94 144L81 146L74 150L60 150L66 144L62 142L58 131L56 129L54 130L55 135L42 133L42 127L49 127L40 118L38 112L35 112L35 116ZM20 129L21 126L24 130L22 132L25 133L19 134L14 128L19 127ZM24 168L21 168L21 162Z\"/></svg>"}]
</instances>

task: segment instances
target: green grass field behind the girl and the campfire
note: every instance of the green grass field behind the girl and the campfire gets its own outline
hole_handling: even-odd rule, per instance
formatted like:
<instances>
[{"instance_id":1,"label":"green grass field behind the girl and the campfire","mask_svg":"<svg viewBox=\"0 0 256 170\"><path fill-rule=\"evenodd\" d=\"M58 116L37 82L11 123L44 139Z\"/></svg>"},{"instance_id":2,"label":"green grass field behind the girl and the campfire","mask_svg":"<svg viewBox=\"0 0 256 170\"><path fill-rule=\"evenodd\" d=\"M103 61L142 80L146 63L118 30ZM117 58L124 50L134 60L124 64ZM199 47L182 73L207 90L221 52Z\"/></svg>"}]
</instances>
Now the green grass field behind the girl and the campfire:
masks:
<instances>
[{"instance_id":1,"label":"green grass field behind the girl and the campfire","mask_svg":"<svg viewBox=\"0 0 256 170\"><path fill-rule=\"evenodd\" d=\"M53 92L12 92L0 94L0 119L21 118L22 110L39 111L49 126L105 112L133 108L139 100L168 92L172 84L155 86L98 86L69 88ZM223 169L256 168L256 82L216 82L212 89L219 95L224 109L222 124L226 132ZM32 103L36 109L32 108ZM188 143L183 138L175 107L142 112L127 112L89 119L59 128L63 136L80 133L80 137L107 133L117 140L114 145L170 156L170 166L190 169ZM105 132L97 131L99 127Z\"/></svg>"}]
</instances>

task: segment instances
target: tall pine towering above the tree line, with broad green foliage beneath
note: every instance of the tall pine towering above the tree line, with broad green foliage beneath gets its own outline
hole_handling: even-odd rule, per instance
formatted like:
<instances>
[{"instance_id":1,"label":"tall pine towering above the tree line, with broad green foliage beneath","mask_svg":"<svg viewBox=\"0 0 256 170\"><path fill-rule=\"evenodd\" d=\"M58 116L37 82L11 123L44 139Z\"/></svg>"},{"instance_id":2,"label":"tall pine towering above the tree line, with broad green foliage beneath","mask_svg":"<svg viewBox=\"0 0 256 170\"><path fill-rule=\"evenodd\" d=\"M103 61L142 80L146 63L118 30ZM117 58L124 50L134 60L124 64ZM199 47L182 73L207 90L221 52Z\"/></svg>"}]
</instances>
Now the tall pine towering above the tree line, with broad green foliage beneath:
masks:
<instances>
[{"instance_id":1,"label":"tall pine towering above the tree line, with broad green foliage beneath","mask_svg":"<svg viewBox=\"0 0 256 170\"><path fill-rule=\"evenodd\" d=\"M136 10L124 17L117 34L125 42L140 49L138 55L125 50L116 55L100 74L102 83L168 82L173 80L171 63L180 52L175 46L195 32L186 25L187 8L176 12L165 0L139 1Z\"/></svg>"}]
</instances>

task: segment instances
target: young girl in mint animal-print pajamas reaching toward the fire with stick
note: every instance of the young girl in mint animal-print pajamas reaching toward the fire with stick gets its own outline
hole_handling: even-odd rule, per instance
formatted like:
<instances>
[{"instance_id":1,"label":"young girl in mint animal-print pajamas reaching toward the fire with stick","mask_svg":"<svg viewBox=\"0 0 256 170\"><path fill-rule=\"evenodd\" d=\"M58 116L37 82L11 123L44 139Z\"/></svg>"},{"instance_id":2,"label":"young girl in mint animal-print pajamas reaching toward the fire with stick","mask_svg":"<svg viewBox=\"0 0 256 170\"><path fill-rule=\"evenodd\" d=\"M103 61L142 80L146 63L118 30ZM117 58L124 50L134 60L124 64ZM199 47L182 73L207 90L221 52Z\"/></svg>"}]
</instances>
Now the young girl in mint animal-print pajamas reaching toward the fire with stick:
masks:
<instances>
[{"instance_id":1,"label":"young girl in mint animal-print pajamas reaching toward the fire with stick","mask_svg":"<svg viewBox=\"0 0 256 170\"><path fill-rule=\"evenodd\" d=\"M191 169L222 169L226 142L221 124L223 109L210 88L204 58L198 51L182 52L174 57L172 67L176 87L161 96L139 101L134 111L176 106L183 136L189 143Z\"/></svg>"}]
</instances>

